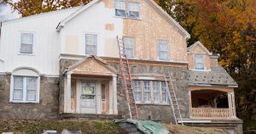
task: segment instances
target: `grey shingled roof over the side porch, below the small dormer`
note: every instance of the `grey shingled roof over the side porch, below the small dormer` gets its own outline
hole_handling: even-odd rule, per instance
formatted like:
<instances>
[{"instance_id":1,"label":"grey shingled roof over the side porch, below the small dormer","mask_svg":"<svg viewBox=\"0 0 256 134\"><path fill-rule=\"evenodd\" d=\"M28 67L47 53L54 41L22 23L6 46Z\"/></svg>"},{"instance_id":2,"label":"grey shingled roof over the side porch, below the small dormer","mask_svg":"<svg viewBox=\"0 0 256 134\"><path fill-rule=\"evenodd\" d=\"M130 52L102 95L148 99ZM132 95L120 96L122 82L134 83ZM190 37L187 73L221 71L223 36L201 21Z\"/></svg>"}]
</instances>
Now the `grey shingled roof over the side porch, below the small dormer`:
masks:
<instances>
[{"instance_id":1,"label":"grey shingled roof over the side porch, below the small dormer","mask_svg":"<svg viewBox=\"0 0 256 134\"><path fill-rule=\"evenodd\" d=\"M188 83L191 86L215 85L237 87L236 81L222 66L214 66L211 71L189 70Z\"/></svg>"}]
</instances>

